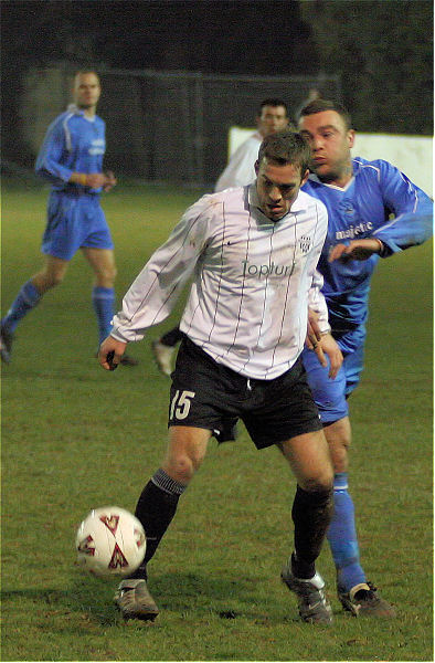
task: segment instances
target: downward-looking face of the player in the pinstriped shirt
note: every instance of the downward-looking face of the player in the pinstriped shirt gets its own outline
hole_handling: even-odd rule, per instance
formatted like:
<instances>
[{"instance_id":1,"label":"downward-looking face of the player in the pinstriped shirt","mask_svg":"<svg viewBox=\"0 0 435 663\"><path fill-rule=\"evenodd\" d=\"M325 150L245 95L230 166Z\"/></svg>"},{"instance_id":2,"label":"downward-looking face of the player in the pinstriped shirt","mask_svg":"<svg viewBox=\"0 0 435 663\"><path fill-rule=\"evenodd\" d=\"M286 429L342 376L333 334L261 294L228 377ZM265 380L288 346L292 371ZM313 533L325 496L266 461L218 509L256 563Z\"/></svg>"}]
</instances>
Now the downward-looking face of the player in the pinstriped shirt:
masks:
<instances>
[{"instance_id":1,"label":"downward-looking face of the player in the pinstriped shirt","mask_svg":"<svg viewBox=\"0 0 435 663\"><path fill-rule=\"evenodd\" d=\"M264 158L259 165L256 164L256 171L259 209L272 221L279 221L290 211L308 178L308 170L301 177L299 166L279 166Z\"/></svg>"}]
</instances>

